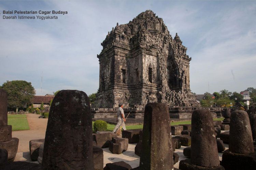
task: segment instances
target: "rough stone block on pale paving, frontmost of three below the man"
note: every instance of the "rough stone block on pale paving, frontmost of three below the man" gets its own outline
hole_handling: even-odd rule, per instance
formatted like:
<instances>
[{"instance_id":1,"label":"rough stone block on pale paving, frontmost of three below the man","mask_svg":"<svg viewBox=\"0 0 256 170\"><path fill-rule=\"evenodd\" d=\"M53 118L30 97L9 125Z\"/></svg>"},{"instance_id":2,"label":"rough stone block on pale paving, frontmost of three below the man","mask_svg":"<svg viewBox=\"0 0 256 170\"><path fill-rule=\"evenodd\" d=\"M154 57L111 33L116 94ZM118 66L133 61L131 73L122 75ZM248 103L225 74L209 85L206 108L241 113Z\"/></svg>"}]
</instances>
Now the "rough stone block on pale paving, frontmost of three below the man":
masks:
<instances>
[{"instance_id":1,"label":"rough stone block on pale paving, frontmost of three below the man","mask_svg":"<svg viewBox=\"0 0 256 170\"><path fill-rule=\"evenodd\" d=\"M114 154L121 154L128 149L127 138L112 138L112 142L109 145L109 150Z\"/></svg>"}]
</instances>

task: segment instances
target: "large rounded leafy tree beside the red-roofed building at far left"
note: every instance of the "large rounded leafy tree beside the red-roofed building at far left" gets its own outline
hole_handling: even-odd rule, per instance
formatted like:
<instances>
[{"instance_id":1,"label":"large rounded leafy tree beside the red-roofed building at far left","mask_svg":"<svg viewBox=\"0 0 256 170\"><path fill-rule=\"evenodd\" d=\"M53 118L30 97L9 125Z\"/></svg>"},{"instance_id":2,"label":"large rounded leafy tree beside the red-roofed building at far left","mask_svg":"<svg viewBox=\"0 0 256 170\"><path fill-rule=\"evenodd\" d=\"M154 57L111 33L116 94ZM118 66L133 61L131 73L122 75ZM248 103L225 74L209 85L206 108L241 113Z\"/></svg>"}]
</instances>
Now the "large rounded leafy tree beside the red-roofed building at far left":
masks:
<instances>
[{"instance_id":1,"label":"large rounded leafy tree beside the red-roofed building at far left","mask_svg":"<svg viewBox=\"0 0 256 170\"><path fill-rule=\"evenodd\" d=\"M7 81L1 86L7 92L8 107L15 107L18 112L19 107L24 107L31 103L35 95L34 87L30 82L23 80Z\"/></svg>"}]
</instances>

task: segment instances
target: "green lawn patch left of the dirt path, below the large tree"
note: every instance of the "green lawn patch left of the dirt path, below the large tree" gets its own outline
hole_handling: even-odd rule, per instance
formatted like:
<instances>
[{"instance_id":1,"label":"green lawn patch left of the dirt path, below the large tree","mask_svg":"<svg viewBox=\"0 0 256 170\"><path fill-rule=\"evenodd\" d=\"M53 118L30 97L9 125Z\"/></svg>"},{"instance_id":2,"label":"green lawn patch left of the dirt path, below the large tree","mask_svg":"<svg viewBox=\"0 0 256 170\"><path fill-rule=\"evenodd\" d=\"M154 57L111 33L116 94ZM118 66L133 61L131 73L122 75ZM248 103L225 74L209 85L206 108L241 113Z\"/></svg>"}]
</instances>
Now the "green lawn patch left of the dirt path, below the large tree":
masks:
<instances>
[{"instance_id":1,"label":"green lawn patch left of the dirt path, below the large tree","mask_svg":"<svg viewBox=\"0 0 256 170\"><path fill-rule=\"evenodd\" d=\"M8 125L13 131L29 130L27 115L8 115Z\"/></svg>"}]
</instances>

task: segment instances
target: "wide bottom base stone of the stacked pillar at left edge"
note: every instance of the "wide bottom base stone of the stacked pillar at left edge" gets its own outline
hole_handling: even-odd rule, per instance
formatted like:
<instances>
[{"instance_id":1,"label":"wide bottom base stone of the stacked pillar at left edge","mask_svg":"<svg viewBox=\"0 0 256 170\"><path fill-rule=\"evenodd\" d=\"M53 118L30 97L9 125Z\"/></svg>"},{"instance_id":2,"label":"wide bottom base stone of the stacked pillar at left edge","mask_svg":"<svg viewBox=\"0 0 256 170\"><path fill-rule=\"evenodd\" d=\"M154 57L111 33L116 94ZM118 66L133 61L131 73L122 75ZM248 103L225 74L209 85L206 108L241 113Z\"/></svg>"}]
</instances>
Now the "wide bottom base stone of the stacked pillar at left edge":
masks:
<instances>
[{"instance_id":1,"label":"wide bottom base stone of the stacked pillar at left edge","mask_svg":"<svg viewBox=\"0 0 256 170\"><path fill-rule=\"evenodd\" d=\"M12 138L10 141L0 142L0 148L6 149L8 152L8 162L13 162L18 150L19 139Z\"/></svg>"}]
</instances>

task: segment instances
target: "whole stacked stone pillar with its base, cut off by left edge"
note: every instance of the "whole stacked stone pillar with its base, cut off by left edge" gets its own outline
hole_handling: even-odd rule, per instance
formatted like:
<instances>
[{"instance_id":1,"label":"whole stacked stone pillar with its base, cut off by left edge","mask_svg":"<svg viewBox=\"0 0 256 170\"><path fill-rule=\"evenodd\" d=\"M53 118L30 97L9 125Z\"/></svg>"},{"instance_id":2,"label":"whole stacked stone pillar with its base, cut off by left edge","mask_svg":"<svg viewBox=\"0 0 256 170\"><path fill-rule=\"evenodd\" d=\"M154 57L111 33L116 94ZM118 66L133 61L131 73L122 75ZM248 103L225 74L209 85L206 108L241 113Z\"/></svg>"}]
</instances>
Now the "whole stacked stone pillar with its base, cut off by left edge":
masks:
<instances>
[{"instance_id":1,"label":"whole stacked stone pillar with its base, cut off by left edge","mask_svg":"<svg viewBox=\"0 0 256 170\"><path fill-rule=\"evenodd\" d=\"M12 125L7 125L7 93L0 88L0 148L8 152L8 162L13 162L19 139L12 138Z\"/></svg>"}]
</instances>

